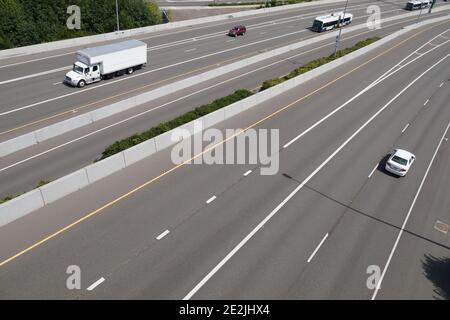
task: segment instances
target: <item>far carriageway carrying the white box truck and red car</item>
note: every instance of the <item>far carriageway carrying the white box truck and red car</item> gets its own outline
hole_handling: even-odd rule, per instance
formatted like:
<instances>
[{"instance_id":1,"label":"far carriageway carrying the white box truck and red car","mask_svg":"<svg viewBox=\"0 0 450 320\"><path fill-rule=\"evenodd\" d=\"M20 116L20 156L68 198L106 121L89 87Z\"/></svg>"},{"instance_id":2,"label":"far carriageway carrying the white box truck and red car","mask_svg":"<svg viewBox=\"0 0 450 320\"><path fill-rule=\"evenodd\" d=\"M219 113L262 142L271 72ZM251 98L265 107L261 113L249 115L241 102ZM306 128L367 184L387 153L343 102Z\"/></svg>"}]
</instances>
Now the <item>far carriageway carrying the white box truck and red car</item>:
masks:
<instances>
[{"instance_id":1,"label":"far carriageway carrying the white box truck and red car","mask_svg":"<svg viewBox=\"0 0 450 320\"><path fill-rule=\"evenodd\" d=\"M357 16L355 24L365 23L368 3L357 1L349 7L349 11ZM400 1L376 3L382 9L382 17L406 12ZM1 60L1 140L61 121L72 116L73 110L92 110L137 92L215 68L217 64L317 36L306 29L311 26L314 17L340 10L342 5L286 10L194 26L187 30L183 28L142 35L136 38L149 46L149 64L145 70L133 76L100 82L84 90L61 84L78 48ZM236 24L245 24L247 35L238 39L228 38L226 32Z\"/></svg>"}]
</instances>

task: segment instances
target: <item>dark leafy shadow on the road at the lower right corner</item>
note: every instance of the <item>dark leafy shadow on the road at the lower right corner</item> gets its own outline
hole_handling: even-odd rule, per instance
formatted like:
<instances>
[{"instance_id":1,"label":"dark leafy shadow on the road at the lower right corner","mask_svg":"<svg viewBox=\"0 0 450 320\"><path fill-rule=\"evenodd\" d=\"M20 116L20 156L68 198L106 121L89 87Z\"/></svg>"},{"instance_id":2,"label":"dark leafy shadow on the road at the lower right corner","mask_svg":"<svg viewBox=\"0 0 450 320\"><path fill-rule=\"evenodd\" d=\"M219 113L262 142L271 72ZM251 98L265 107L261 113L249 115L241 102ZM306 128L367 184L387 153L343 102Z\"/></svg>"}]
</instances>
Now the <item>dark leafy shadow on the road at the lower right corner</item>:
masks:
<instances>
[{"instance_id":1,"label":"dark leafy shadow on the road at the lower right corner","mask_svg":"<svg viewBox=\"0 0 450 320\"><path fill-rule=\"evenodd\" d=\"M424 255L422 268L425 277L434 285L434 296L438 300L450 300L450 258Z\"/></svg>"}]
</instances>

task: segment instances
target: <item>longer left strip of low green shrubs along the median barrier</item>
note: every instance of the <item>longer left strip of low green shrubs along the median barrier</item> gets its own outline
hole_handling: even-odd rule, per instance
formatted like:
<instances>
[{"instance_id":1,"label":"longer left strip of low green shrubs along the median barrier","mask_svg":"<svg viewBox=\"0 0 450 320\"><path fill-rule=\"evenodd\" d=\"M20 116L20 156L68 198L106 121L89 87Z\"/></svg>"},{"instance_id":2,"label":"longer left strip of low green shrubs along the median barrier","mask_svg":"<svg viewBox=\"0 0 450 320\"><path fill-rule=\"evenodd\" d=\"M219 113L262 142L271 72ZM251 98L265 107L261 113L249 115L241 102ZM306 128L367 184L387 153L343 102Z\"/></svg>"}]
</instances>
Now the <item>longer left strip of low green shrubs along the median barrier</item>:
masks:
<instances>
[{"instance_id":1,"label":"longer left strip of low green shrubs along the median barrier","mask_svg":"<svg viewBox=\"0 0 450 320\"><path fill-rule=\"evenodd\" d=\"M232 93L226 97L216 99L209 104L197 107L192 111L186 112L186 113L176 117L175 119L160 123L160 124L150 128L147 131L144 131L142 133L135 133L128 138L122 139L120 141L116 141L113 144L111 144L110 146L108 146L102 152L102 156L99 159L97 159L96 161L108 158L116 153L122 152L123 150L131 148L141 142L152 139L164 132L170 131L174 128L177 128L183 124L191 122L191 121L198 119L208 113L211 113L218 109L226 107L234 102L237 102L239 100L247 98L251 95L252 95L252 92L249 90L237 90L234 93Z\"/></svg>"}]
</instances>

